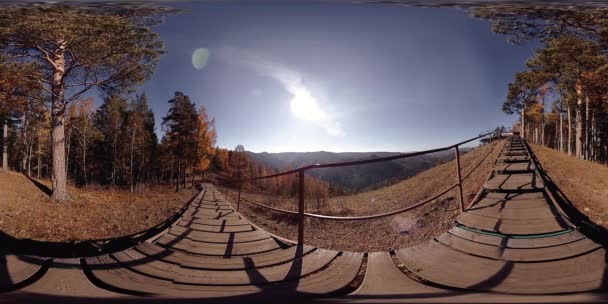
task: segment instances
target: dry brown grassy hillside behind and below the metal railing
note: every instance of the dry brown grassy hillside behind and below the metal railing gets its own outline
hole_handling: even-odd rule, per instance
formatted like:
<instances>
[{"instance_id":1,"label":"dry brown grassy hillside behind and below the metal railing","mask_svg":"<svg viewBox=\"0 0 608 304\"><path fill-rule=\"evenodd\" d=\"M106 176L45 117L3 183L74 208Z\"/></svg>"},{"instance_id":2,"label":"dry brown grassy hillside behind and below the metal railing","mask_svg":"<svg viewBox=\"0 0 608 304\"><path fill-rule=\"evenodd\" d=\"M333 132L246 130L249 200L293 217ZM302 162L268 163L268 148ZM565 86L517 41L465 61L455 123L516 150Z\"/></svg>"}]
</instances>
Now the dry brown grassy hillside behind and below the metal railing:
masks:
<instances>
[{"instance_id":1,"label":"dry brown grassy hillside behind and below the metal railing","mask_svg":"<svg viewBox=\"0 0 608 304\"><path fill-rule=\"evenodd\" d=\"M464 182L465 200L477 193L491 170L504 141L482 146L461 157L463 174L471 170L482 159L483 162ZM489 155L489 153L492 153ZM489 155L484 159L486 155ZM352 196L329 199L323 214L366 215L386 212L412 205L431 197L456 182L455 161L439 165L419 173L400 183ZM305 243L320 248L344 251L379 251L398 249L422 243L449 229L459 214L457 190L409 212L376 220L331 221L307 219ZM234 194L234 190L232 190ZM252 197L253 198L253 197ZM255 198L253 198L255 199ZM260 199L260 197L257 197ZM234 203L233 196L229 202ZM264 202L264 200L261 200ZM275 202L274 205L294 209L295 199ZM309 210L317 212L314 203ZM241 214L254 224L279 236L296 239L297 226L293 216L269 211L248 203L241 203ZM395 222L413 222L415 227L399 233Z\"/></svg>"}]
</instances>

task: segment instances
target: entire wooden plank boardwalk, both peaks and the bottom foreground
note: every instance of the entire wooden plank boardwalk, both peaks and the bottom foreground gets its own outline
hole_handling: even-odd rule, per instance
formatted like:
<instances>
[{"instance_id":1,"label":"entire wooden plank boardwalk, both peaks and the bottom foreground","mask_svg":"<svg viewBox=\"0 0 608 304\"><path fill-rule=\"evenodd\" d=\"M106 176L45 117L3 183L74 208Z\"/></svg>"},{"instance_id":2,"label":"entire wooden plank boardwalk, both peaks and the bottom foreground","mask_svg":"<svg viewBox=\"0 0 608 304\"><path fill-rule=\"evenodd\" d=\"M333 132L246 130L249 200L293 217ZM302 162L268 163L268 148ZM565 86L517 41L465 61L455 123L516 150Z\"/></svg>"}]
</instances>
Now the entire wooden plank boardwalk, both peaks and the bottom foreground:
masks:
<instances>
[{"instance_id":1,"label":"entire wooden plank boardwalk, both peaks and the bottom foreground","mask_svg":"<svg viewBox=\"0 0 608 304\"><path fill-rule=\"evenodd\" d=\"M207 184L181 219L132 248L80 259L4 252L0 302L607 301L595 292L608 280L606 249L551 203L531 156L511 138L450 231L394 252L293 244Z\"/></svg>"}]
</instances>

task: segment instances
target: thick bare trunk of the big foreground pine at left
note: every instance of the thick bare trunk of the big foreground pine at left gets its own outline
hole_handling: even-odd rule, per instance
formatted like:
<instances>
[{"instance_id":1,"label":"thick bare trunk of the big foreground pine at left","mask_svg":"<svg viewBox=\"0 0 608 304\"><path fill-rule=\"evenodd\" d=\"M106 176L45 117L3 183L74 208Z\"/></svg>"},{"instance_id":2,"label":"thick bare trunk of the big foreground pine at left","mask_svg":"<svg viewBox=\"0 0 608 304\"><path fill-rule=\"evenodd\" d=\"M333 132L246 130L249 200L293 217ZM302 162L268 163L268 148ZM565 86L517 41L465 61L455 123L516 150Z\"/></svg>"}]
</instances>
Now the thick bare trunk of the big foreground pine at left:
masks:
<instances>
[{"instance_id":1,"label":"thick bare trunk of the big foreground pine at left","mask_svg":"<svg viewBox=\"0 0 608 304\"><path fill-rule=\"evenodd\" d=\"M52 198L55 201L68 199L67 172L65 167L65 100L63 99L63 74L65 72L65 42L53 52L53 77L51 79L51 142L53 154Z\"/></svg>"}]
</instances>

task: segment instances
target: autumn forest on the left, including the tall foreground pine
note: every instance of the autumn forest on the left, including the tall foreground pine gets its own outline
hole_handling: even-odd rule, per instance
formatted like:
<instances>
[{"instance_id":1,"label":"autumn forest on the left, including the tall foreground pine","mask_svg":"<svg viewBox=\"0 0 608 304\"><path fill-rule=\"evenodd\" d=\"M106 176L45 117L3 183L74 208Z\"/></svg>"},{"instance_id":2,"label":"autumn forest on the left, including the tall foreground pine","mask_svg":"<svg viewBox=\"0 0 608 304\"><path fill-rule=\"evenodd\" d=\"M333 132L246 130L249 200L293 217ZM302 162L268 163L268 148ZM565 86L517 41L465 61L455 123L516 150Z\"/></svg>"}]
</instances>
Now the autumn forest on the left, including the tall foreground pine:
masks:
<instances>
[{"instance_id":1,"label":"autumn forest on the left, including the tall foreground pine","mask_svg":"<svg viewBox=\"0 0 608 304\"><path fill-rule=\"evenodd\" d=\"M235 153L214 147L215 119L204 106L176 92L159 139L148 97L137 93L164 53L151 26L175 13L137 5L3 6L2 168L50 178L56 201L69 199L68 181L180 190L187 176L194 183L212 165L227 169Z\"/></svg>"}]
</instances>

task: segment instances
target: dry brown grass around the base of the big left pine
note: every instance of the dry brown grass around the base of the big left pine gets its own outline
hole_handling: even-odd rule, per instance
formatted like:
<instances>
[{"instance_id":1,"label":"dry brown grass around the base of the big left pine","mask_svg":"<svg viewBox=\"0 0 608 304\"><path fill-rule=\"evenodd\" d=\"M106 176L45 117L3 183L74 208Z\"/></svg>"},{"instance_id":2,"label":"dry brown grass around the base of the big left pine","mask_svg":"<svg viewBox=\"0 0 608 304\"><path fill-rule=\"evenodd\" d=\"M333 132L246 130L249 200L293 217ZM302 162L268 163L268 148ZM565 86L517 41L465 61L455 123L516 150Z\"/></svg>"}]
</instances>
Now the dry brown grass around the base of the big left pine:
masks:
<instances>
[{"instance_id":1,"label":"dry brown grass around the base of the big left pine","mask_svg":"<svg viewBox=\"0 0 608 304\"><path fill-rule=\"evenodd\" d=\"M49 186L48 181L40 181ZM56 203L24 175L0 170L0 230L15 238L78 241L142 231L177 212L192 196L157 188L145 194L69 187Z\"/></svg>"}]
</instances>

